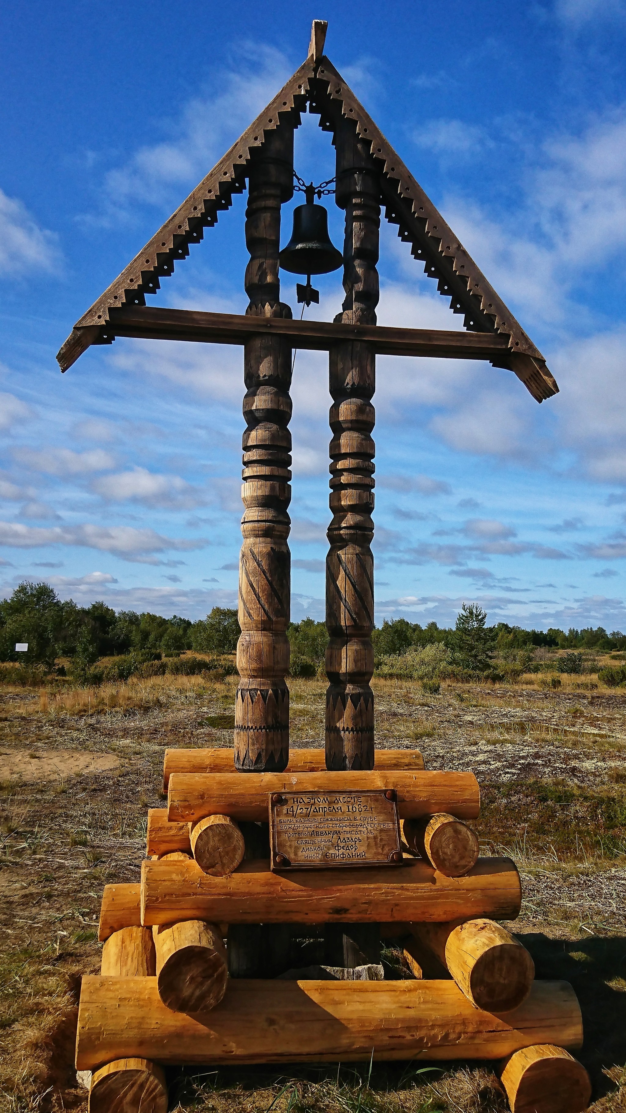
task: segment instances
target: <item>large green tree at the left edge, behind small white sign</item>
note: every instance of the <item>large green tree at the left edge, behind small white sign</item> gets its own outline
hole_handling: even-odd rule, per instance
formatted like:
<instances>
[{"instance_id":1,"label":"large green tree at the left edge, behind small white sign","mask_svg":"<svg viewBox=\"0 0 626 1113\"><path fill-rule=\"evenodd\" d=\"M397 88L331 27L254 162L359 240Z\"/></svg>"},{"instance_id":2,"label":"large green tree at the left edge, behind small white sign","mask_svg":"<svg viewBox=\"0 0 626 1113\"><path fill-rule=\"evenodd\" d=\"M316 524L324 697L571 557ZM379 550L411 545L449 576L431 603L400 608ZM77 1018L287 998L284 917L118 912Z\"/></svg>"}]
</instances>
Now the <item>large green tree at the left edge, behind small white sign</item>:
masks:
<instances>
[{"instance_id":1,"label":"large green tree at the left edge, behind small white sign","mask_svg":"<svg viewBox=\"0 0 626 1113\"><path fill-rule=\"evenodd\" d=\"M0 603L0 659L53 664L62 618L55 589L25 580ZM28 652L16 653L17 642L28 642Z\"/></svg>"}]
</instances>

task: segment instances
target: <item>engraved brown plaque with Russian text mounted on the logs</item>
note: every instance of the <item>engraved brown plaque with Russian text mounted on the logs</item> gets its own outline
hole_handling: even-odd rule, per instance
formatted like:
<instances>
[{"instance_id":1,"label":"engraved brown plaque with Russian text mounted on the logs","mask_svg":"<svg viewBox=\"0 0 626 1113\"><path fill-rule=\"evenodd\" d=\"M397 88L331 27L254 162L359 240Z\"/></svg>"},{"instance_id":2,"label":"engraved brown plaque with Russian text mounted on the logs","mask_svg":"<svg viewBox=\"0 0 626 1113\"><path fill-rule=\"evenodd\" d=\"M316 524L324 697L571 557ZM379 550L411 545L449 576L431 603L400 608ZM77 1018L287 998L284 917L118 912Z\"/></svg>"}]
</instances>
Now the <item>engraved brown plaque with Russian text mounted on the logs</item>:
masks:
<instances>
[{"instance_id":1,"label":"engraved brown plaque with Russian text mounted on the logs","mask_svg":"<svg viewBox=\"0 0 626 1113\"><path fill-rule=\"evenodd\" d=\"M272 869L395 866L402 861L393 789L273 792Z\"/></svg>"}]
</instances>

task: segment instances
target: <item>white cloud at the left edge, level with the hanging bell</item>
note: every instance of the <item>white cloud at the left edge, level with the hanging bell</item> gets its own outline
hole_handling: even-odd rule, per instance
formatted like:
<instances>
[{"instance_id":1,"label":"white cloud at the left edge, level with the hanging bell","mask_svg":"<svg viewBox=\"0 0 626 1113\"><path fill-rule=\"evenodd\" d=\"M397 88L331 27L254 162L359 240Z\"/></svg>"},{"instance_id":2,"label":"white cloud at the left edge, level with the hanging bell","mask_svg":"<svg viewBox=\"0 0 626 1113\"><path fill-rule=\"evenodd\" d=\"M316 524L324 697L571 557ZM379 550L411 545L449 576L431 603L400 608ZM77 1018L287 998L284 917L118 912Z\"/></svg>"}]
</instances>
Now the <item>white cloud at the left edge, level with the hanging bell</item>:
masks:
<instances>
[{"instance_id":1,"label":"white cloud at the left edge, level with the hanging bell","mask_svg":"<svg viewBox=\"0 0 626 1113\"><path fill-rule=\"evenodd\" d=\"M23 201L0 189L0 277L55 274L60 263L55 233L40 228Z\"/></svg>"}]
</instances>

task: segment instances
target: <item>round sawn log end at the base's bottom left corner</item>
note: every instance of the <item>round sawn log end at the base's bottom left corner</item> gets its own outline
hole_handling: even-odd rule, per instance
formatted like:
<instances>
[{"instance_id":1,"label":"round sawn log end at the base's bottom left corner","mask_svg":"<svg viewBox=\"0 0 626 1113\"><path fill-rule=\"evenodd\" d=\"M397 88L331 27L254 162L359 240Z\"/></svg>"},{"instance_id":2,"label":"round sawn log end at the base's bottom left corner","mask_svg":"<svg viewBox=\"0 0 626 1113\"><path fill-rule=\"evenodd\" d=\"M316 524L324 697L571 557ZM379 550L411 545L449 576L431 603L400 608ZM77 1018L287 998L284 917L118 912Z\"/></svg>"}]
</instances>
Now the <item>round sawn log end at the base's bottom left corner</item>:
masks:
<instances>
[{"instance_id":1,"label":"round sawn log end at the base's bottom left corner","mask_svg":"<svg viewBox=\"0 0 626 1113\"><path fill-rule=\"evenodd\" d=\"M160 1066L147 1058L116 1058L94 1073L89 1113L167 1113Z\"/></svg>"}]
</instances>

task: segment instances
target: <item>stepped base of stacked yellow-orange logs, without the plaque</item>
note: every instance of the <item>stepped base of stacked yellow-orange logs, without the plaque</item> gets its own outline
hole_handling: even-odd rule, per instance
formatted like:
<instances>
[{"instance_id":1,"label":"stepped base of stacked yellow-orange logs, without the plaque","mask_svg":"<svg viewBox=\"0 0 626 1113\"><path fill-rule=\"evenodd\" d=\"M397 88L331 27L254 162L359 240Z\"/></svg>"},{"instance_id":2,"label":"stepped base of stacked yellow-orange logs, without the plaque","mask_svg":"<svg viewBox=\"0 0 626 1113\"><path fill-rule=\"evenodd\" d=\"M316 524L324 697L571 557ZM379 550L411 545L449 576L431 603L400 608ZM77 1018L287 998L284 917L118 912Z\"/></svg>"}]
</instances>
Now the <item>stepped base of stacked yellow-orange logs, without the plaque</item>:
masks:
<instances>
[{"instance_id":1,"label":"stepped base of stacked yellow-orange logs, without the plaque","mask_svg":"<svg viewBox=\"0 0 626 1113\"><path fill-rule=\"evenodd\" d=\"M292 774L242 775L196 752L166 755L169 808L150 811L140 884L105 888L101 974L82 979L76 1051L77 1070L92 1072L92 1111L165 1113L172 1065L373 1055L499 1063L511 1113L581 1113L578 1001L567 983L535 978L496 923L515 920L521 885L510 859L476 859L471 774L421 770L403 750L379 770L324 771L320 754L292 750ZM272 870L272 795L350 786L394 787L402 861ZM303 935L317 957L299 968ZM387 979L381 937L400 940L403 981Z\"/></svg>"}]
</instances>

